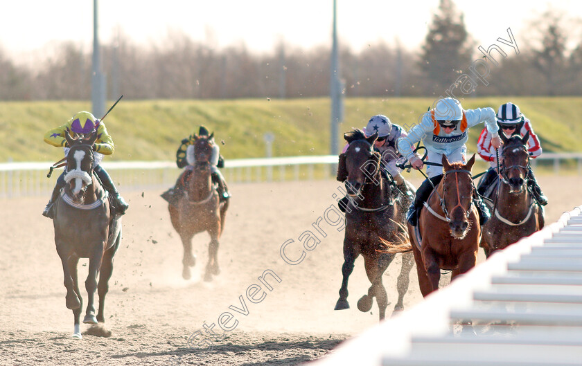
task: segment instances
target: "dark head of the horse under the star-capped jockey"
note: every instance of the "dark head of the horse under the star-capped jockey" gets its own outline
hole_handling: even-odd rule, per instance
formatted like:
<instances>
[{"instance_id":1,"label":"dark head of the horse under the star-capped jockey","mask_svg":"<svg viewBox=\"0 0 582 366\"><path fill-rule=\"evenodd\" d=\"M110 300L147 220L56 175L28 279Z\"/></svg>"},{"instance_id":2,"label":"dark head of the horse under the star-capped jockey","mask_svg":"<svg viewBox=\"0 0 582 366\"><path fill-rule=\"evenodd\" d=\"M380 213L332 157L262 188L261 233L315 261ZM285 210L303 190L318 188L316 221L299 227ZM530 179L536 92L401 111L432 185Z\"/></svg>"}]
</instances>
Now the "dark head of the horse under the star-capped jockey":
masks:
<instances>
[{"instance_id":1,"label":"dark head of the horse under the star-capped jockey","mask_svg":"<svg viewBox=\"0 0 582 366\"><path fill-rule=\"evenodd\" d=\"M378 184L378 174L380 174L380 154L373 149L374 142L378 138L378 133L366 137L360 129L354 129L344 134L344 139L349 143L349 147L340 156L338 167L338 179L344 175L346 181L346 191L350 196L357 196L361 193L362 187L367 180Z\"/></svg>"}]
</instances>

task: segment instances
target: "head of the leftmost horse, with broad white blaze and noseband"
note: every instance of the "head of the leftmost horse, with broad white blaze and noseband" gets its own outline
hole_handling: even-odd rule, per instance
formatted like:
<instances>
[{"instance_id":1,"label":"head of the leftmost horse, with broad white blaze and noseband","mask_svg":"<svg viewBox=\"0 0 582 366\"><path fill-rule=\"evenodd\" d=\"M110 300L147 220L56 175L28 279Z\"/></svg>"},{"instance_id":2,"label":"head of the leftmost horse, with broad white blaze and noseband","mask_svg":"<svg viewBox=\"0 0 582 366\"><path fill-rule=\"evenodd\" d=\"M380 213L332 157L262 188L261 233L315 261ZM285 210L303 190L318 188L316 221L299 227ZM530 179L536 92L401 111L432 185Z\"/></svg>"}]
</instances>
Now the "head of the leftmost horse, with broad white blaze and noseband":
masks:
<instances>
[{"instance_id":1,"label":"head of the leftmost horse, with broad white blaze and noseband","mask_svg":"<svg viewBox=\"0 0 582 366\"><path fill-rule=\"evenodd\" d=\"M93 131L87 138L72 138L69 131L64 132L64 138L69 145L67 153L67 174L64 181L65 189L75 202L82 201L87 187L93 183L93 144L97 140L97 131Z\"/></svg>"}]
</instances>

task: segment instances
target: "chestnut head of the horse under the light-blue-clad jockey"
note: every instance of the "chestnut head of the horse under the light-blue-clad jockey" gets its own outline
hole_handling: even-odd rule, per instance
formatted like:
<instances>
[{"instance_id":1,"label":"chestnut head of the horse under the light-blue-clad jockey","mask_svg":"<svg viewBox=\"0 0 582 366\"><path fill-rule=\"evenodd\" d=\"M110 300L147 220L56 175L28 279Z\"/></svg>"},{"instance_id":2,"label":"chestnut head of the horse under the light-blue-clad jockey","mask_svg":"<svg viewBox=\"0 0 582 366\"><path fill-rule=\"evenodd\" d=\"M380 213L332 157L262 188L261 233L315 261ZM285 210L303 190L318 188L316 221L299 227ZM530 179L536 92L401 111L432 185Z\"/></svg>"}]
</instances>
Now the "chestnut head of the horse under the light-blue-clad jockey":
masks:
<instances>
[{"instance_id":1,"label":"chestnut head of the horse under the light-blue-clad jockey","mask_svg":"<svg viewBox=\"0 0 582 366\"><path fill-rule=\"evenodd\" d=\"M473 179L471 168L475 154L466 164L449 163L446 156L442 159L445 173L440 184L441 208L449 219L452 237L463 239L469 228L469 215L473 203Z\"/></svg>"}]
</instances>

